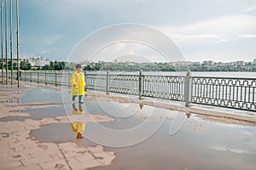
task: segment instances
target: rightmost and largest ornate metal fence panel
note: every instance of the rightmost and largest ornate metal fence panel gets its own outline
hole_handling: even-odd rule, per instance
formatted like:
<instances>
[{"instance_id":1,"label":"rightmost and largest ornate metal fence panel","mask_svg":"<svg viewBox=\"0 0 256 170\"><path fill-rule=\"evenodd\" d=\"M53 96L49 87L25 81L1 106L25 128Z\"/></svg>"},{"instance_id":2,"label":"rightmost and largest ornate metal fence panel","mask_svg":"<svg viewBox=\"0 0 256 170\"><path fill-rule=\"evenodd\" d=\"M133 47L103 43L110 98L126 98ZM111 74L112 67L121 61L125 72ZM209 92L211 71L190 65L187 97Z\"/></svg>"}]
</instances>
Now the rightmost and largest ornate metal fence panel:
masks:
<instances>
[{"instance_id":1,"label":"rightmost and largest ornate metal fence panel","mask_svg":"<svg viewBox=\"0 0 256 170\"><path fill-rule=\"evenodd\" d=\"M256 111L256 79L192 77L192 103Z\"/></svg>"}]
</instances>

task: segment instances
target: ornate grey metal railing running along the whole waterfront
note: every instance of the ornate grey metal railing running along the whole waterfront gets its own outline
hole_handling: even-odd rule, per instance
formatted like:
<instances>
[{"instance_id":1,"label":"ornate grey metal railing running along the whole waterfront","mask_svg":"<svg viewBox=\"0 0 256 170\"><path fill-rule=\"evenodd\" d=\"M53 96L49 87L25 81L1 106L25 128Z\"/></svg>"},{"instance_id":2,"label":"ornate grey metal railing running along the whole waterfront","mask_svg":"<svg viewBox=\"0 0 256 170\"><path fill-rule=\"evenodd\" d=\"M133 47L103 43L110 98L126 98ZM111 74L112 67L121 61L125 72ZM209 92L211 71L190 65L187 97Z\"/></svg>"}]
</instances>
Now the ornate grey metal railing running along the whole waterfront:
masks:
<instances>
[{"instance_id":1,"label":"ornate grey metal railing running along the whole waterfront","mask_svg":"<svg viewBox=\"0 0 256 170\"><path fill-rule=\"evenodd\" d=\"M4 74L5 75L5 74ZM16 71L14 71L16 75ZM70 71L22 71L21 80L71 87ZM256 111L256 79L230 77L153 76L143 72L84 72L86 88L109 93L171 99L191 104ZM10 78L10 76L9 76ZM14 76L14 78L16 78Z\"/></svg>"}]
</instances>

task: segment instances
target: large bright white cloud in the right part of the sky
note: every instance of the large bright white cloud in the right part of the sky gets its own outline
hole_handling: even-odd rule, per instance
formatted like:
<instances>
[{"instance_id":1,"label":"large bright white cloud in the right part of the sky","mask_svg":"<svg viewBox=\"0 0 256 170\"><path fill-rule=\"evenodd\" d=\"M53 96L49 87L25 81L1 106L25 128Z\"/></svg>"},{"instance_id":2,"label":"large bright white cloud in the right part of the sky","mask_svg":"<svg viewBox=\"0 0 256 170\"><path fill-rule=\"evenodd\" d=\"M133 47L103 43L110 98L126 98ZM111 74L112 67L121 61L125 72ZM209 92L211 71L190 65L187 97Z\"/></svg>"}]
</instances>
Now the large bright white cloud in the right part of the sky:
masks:
<instances>
[{"instance_id":1,"label":"large bright white cloud in the right part of the sky","mask_svg":"<svg viewBox=\"0 0 256 170\"><path fill-rule=\"evenodd\" d=\"M237 34L254 33L255 20L256 16L230 15L184 26L162 26L160 31L181 41L201 38L212 38L212 41L218 38L228 40Z\"/></svg>"}]
</instances>

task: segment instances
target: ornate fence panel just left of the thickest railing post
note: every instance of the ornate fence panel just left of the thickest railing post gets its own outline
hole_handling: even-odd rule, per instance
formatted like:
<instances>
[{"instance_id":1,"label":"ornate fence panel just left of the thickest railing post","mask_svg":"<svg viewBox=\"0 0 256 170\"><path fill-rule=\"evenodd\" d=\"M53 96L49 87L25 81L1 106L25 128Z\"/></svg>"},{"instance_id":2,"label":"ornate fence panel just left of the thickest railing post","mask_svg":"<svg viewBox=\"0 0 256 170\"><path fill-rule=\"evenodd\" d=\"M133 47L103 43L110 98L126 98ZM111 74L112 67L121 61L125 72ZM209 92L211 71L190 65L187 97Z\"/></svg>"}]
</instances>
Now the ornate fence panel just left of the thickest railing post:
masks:
<instances>
[{"instance_id":1,"label":"ornate fence panel just left of the thickest railing post","mask_svg":"<svg viewBox=\"0 0 256 170\"><path fill-rule=\"evenodd\" d=\"M143 96L184 101L185 77L143 76Z\"/></svg>"}]
</instances>

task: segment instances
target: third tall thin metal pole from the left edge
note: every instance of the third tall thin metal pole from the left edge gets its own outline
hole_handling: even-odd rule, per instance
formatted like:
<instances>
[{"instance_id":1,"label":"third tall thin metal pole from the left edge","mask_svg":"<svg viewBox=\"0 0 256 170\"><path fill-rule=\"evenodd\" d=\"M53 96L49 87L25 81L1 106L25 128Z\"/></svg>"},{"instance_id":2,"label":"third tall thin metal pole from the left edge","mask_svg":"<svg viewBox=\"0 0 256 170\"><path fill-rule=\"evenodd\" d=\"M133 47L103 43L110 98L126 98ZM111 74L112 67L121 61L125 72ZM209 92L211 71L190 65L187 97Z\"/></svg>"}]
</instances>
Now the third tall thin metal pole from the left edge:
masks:
<instances>
[{"instance_id":1,"label":"third tall thin metal pole from the left edge","mask_svg":"<svg viewBox=\"0 0 256 170\"><path fill-rule=\"evenodd\" d=\"M13 80L13 5L12 0L9 0L9 51L11 59L11 85L14 84Z\"/></svg>"}]
</instances>

